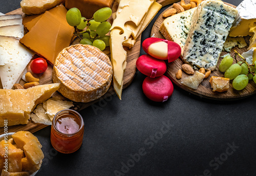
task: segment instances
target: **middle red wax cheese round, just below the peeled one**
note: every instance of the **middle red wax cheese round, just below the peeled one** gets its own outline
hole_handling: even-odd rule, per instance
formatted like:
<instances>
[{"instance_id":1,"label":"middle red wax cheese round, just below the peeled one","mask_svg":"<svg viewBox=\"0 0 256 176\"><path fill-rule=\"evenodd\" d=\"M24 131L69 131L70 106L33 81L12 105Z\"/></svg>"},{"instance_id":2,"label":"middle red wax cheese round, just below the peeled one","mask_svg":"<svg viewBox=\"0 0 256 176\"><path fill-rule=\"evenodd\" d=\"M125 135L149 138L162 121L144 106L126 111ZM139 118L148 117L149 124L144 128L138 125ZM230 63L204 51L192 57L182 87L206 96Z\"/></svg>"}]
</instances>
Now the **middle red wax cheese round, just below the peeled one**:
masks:
<instances>
[{"instance_id":1,"label":"middle red wax cheese round, just below the peeled one","mask_svg":"<svg viewBox=\"0 0 256 176\"><path fill-rule=\"evenodd\" d=\"M151 78L162 76L166 72L166 63L148 54L137 59L136 67L141 73Z\"/></svg>"}]
</instances>

